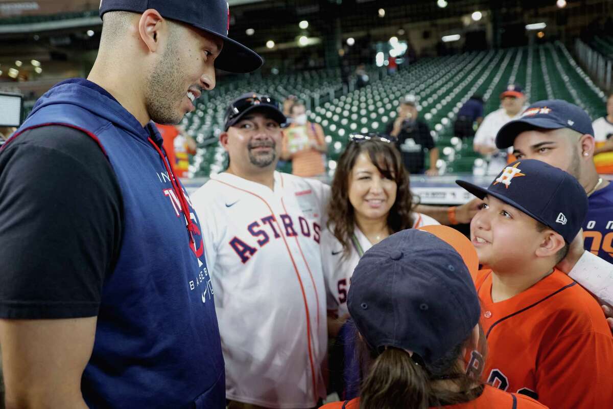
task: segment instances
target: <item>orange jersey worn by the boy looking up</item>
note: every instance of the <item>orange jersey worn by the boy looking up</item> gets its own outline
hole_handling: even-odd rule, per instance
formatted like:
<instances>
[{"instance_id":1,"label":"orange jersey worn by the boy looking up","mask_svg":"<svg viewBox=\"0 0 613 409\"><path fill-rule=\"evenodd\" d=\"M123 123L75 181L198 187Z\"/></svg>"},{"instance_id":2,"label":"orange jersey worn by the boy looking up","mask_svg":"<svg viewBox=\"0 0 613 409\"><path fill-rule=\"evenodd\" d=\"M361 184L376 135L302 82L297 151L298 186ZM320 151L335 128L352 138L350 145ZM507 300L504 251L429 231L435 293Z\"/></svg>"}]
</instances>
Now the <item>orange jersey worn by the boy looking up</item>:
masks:
<instances>
[{"instance_id":1,"label":"orange jersey worn by the boy looking up","mask_svg":"<svg viewBox=\"0 0 613 409\"><path fill-rule=\"evenodd\" d=\"M585 289L558 270L501 302L492 301L491 270L475 284L488 383L550 408L613 408L613 337Z\"/></svg>"}]
</instances>

